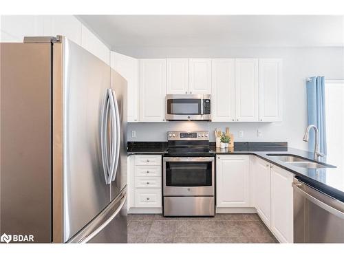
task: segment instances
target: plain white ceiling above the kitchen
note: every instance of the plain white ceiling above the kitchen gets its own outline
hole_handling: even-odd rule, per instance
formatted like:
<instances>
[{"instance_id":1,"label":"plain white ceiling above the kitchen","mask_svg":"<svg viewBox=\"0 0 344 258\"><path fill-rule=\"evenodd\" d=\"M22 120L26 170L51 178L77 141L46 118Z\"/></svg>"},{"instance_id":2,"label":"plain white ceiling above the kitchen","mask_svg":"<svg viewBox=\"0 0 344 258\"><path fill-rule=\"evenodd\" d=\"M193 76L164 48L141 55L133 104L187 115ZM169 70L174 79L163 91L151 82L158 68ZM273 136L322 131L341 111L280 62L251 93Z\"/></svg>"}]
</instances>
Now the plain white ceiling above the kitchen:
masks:
<instances>
[{"instance_id":1,"label":"plain white ceiling above the kitchen","mask_svg":"<svg viewBox=\"0 0 344 258\"><path fill-rule=\"evenodd\" d=\"M80 15L116 47L343 46L343 16Z\"/></svg>"}]
</instances>

